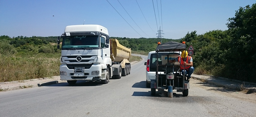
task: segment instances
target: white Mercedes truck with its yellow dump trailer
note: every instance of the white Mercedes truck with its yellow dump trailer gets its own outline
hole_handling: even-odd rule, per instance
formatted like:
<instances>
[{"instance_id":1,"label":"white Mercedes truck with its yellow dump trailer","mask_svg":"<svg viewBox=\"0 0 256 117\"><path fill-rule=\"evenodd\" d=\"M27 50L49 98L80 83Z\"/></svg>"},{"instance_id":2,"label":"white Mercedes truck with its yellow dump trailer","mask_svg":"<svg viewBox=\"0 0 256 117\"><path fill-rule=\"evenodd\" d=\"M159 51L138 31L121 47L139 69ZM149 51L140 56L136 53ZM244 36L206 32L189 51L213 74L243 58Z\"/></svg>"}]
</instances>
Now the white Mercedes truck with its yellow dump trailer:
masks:
<instances>
[{"instance_id":1,"label":"white Mercedes truck with its yellow dump trailer","mask_svg":"<svg viewBox=\"0 0 256 117\"><path fill-rule=\"evenodd\" d=\"M62 43L61 43L62 39ZM109 39L108 29L101 25L69 25L58 36L61 47L61 80L75 84L77 80L101 81L130 74L131 49Z\"/></svg>"}]
</instances>

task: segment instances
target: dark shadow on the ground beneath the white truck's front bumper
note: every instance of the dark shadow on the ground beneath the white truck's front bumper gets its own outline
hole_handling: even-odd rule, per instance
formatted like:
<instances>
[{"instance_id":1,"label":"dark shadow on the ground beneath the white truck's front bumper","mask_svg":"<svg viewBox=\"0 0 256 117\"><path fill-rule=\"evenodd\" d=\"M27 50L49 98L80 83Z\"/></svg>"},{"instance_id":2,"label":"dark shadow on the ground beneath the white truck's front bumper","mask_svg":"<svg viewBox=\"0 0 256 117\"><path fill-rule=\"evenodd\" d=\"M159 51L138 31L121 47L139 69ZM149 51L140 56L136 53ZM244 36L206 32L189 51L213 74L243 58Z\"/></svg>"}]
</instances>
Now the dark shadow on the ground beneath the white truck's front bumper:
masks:
<instances>
[{"instance_id":1,"label":"dark shadow on the ground beneath the white truck's front bumper","mask_svg":"<svg viewBox=\"0 0 256 117\"><path fill-rule=\"evenodd\" d=\"M68 84L67 82L64 83L57 83L57 84L52 84L52 85L44 85L44 86L100 86L102 85L101 82L97 81L77 81L75 84Z\"/></svg>"}]
</instances>

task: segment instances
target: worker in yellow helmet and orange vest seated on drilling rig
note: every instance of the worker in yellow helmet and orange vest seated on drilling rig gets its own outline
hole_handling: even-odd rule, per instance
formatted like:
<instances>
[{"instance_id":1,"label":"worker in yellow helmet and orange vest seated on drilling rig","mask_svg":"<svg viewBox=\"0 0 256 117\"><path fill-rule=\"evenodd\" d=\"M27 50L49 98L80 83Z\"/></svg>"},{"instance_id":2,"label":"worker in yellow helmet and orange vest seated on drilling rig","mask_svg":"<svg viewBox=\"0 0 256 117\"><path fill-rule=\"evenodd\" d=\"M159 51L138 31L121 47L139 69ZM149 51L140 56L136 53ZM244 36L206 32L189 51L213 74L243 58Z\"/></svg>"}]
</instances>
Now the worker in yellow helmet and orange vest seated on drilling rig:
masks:
<instances>
[{"instance_id":1,"label":"worker in yellow helmet and orange vest seated on drilling rig","mask_svg":"<svg viewBox=\"0 0 256 117\"><path fill-rule=\"evenodd\" d=\"M193 67L193 59L191 56L188 56L188 51L182 51L181 57L177 57L174 60L169 60L170 63L173 62L180 62L180 68L181 68L181 73L182 75L185 72L185 75L187 75L187 80L190 80L191 74L194 72L194 67ZM184 68L185 65L185 68Z\"/></svg>"}]
</instances>

